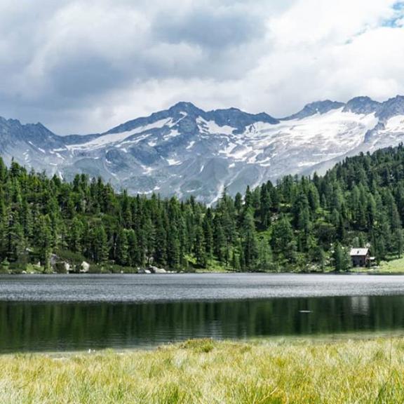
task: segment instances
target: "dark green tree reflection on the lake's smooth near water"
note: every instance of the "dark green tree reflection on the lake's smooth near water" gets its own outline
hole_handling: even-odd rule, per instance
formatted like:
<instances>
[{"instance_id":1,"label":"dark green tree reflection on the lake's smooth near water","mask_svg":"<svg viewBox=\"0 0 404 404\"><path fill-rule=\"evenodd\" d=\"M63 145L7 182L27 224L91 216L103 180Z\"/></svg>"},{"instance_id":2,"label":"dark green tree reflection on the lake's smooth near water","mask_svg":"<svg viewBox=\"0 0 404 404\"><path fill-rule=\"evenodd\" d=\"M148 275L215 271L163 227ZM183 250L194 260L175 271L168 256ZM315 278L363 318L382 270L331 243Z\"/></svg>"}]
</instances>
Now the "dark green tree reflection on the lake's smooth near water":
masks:
<instances>
[{"instance_id":1,"label":"dark green tree reflection on the lake's smooth near water","mask_svg":"<svg viewBox=\"0 0 404 404\"><path fill-rule=\"evenodd\" d=\"M404 329L403 296L222 302L0 302L0 351L156 346L196 337L246 339Z\"/></svg>"}]
</instances>

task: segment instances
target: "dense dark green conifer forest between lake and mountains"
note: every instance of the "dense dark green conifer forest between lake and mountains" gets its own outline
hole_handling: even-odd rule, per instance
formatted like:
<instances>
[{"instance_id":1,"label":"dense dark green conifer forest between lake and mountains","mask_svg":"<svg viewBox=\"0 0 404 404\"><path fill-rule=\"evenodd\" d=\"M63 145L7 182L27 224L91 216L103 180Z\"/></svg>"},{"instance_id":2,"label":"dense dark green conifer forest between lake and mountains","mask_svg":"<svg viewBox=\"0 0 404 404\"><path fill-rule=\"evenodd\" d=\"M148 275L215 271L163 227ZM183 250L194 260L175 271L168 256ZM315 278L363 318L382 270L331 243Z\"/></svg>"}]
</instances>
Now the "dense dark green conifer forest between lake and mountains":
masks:
<instances>
[{"instance_id":1,"label":"dense dark green conifer forest between lake and mountains","mask_svg":"<svg viewBox=\"0 0 404 404\"><path fill-rule=\"evenodd\" d=\"M337 270L349 247L377 260L403 253L404 147L361 154L325 175L286 176L213 207L190 197L130 196L100 178L72 182L0 159L0 260L15 266L53 253L97 267Z\"/></svg>"}]
</instances>

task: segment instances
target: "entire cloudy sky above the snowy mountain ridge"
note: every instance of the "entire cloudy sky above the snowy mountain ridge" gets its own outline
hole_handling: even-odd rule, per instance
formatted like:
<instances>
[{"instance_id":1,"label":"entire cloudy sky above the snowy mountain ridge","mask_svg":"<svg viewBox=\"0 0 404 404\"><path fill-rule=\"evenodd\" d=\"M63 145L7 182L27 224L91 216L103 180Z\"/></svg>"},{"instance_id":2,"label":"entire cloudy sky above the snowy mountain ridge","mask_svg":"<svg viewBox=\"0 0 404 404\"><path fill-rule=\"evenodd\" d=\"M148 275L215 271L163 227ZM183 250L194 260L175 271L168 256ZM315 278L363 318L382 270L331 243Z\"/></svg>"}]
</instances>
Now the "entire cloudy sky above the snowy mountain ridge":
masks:
<instances>
[{"instance_id":1,"label":"entire cloudy sky above the snowy mountain ridge","mask_svg":"<svg viewBox=\"0 0 404 404\"><path fill-rule=\"evenodd\" d=\"M0 116L65 135L191 101L285 116L404 94L404 2L0 0Z\"/></svg>"}]
</instances>

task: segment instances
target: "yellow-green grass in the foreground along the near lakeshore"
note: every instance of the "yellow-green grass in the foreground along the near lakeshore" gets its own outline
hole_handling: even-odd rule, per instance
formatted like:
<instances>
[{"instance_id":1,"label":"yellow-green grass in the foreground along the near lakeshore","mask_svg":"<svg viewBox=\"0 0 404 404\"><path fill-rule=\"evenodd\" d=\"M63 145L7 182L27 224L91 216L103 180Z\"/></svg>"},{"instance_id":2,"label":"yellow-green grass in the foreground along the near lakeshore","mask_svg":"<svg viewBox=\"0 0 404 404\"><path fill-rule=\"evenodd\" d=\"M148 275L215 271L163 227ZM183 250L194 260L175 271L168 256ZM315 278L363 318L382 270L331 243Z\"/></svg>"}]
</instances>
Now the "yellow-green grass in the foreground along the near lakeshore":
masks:
<instances>
[{"instance_id":1,"label":"yellow-green grass in the foreground along the near lakeshore","mask_svg":"<svg viewBox=\"0 0 404 404\"><path fill-rule=\"evenodd\" d=\"M403 403L404 339L6 355L0 372L2 404Z\"/></svg>"}]
</instances>

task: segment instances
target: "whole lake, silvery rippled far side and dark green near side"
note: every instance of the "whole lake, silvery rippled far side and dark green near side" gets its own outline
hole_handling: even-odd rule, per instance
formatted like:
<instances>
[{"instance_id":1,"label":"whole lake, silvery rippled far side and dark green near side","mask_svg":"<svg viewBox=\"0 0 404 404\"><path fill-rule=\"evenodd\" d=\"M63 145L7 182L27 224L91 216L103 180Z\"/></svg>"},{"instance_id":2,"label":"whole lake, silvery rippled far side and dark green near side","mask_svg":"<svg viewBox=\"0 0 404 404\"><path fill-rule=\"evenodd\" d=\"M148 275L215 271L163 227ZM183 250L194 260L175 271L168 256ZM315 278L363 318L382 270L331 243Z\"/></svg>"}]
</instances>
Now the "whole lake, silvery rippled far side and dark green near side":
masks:
<instances>
[{"instance_id":1,"label":"whole lake, silvery rippled far side and dark green near side","mask_svg":"<svg viewBox=\"0 0 404 404\"><path fill-rule=\"evenodd\" d=\"M404 276L0 277L0 352L404 332Z\"/></svg>"}]
</instances>

